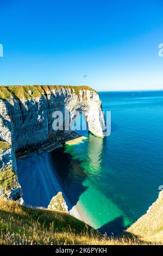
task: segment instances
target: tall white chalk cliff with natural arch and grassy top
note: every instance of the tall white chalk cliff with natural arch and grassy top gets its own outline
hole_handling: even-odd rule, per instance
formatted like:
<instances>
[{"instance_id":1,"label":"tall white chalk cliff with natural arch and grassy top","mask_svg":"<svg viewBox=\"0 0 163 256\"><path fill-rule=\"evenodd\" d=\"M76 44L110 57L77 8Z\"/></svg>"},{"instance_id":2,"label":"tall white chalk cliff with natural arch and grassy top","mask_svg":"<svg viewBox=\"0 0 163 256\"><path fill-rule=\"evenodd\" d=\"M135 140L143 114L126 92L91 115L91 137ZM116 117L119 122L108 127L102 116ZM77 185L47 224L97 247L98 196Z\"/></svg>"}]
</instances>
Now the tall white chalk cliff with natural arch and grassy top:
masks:
<instances>
[{"instance_id":1,"label":"tall white chalk cliff with natural arch and grassy top","mask_svg":"<svg viewBox=\"0 0 163 256\"><path fill-rule=\"evenodd\" d=\"M53 112L84 112L89 131L103 136L104 119L101 101L89 87L8 86L0 87L0 141L10 147L0 149L0 168L12 166L16 172L15 154L36 150L71 136L71 130L54 131ZM64 117L65 120L65 117Z\"/></svg>"}]
</instances>

